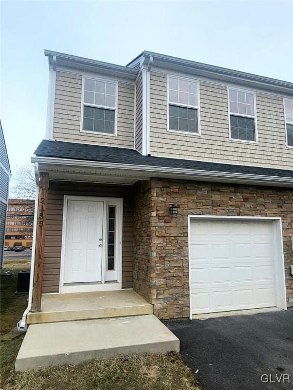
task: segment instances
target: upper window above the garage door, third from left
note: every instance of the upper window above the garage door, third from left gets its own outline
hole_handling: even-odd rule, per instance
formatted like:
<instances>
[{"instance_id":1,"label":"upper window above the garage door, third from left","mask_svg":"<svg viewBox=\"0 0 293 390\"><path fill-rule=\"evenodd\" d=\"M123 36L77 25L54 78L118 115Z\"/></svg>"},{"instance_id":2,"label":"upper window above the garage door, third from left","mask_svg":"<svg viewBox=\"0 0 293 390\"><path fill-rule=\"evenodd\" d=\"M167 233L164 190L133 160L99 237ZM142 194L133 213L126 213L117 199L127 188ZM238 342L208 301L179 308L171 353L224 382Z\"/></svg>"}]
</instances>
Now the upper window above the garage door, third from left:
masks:
<instances>
[{"instance_id":1,"label":"upper window above the garage door, third from left","mask_svg":"<svg viewBox=\"0 0 293 390\"><path fill-rule=\"evenodd\" d=\"M257 142L255 95L229 89L230 138Z\"/></svg>"}]
</instances>

